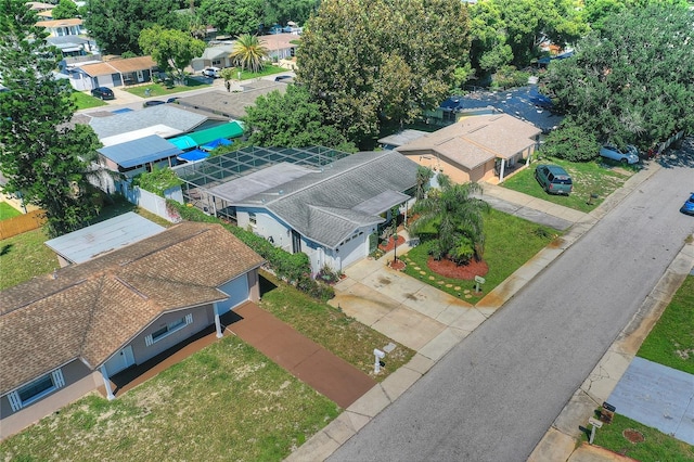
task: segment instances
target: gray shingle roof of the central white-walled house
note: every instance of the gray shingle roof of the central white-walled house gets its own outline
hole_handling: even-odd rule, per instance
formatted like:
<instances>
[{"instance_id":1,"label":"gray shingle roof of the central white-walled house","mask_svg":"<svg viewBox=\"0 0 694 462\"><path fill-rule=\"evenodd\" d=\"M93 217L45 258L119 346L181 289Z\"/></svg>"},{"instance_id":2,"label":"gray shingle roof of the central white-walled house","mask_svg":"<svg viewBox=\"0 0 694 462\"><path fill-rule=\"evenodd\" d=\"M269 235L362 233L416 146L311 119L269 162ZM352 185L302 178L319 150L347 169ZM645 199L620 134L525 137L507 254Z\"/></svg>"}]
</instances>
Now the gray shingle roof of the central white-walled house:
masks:
<instances>
[{"instance_id":1,"label":"gray shingle roof of the central white-walled house","mask_svg":"<svg viewBox=\"0 0 694 462\"><path fill-rule=\"evenodd\" d=\"M398 152L364 152L336 161L243 201L265 206L308 239L337 247L357 228L407 200L417 165Z\"/></svg>"}]
</instances>

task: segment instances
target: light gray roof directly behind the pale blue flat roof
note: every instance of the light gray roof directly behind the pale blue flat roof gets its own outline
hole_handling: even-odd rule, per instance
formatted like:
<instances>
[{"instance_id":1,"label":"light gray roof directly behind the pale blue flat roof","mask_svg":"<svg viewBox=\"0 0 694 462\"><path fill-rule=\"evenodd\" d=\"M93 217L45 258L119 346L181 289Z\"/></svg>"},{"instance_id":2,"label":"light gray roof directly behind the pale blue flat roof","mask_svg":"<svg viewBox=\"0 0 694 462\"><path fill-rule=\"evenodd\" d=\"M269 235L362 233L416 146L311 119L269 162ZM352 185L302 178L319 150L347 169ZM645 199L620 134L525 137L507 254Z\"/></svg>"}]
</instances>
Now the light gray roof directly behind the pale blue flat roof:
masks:
<instances>
[{"instance_id":1,"label":"light gray roof directly behind the pale blue flat roof","mask_svg":"<svg viewBox=\"0 0 694 462\"><path fill-rule=\"evenodd\" d=\"M166 125L184 133L207 120L207 116L175 107L172 104L144 107L111 117L94 117L89 121L99 137L108 138L155 125Z\"/></svg>"}]
</instances>

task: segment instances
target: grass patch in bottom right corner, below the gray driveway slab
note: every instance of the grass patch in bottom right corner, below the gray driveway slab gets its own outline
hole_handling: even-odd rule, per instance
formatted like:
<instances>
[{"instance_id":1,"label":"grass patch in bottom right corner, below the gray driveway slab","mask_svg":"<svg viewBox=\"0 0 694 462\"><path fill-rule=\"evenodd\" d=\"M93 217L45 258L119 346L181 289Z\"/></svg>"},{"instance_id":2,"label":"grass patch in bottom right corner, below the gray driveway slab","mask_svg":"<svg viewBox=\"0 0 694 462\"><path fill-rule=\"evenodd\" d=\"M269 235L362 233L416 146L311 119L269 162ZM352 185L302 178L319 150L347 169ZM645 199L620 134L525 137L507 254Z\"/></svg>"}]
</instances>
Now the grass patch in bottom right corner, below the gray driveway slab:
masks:
<instances>
[{"instance_id":1,"label":"grass patch in bottom right corner, below the gray driveway slab","mask_svg":"<svg viewBox=\"0 0 694 462\"><path fill-rule=\"evenodd\" d=\"M622 432L628 428L640 432L644 440L635 444L627 440ZM596 429L593 444L641 462L694 460L694 446L619 414L615 414L612 424L603 424L602 428Z\"/></svg>"}]
</instances>

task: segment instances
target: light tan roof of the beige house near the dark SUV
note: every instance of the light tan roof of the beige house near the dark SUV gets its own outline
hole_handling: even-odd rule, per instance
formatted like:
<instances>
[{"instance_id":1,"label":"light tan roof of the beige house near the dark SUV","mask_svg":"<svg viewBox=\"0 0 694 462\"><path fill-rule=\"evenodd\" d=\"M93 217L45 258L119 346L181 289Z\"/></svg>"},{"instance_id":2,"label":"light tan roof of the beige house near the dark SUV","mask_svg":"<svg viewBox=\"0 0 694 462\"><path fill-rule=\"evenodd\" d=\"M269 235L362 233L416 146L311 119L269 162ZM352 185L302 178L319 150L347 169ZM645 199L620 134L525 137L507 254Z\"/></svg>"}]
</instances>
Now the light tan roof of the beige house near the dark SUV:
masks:
<instances>
[{"instance_id":1,"label":"light tan roof of the beige house near the dark SUV","mask_svg":"<svg viewBox=\"0 0 694 462\"><path fill-rule=\"evenodd\" d=\"M509 158L536 143L542 130L507 114L465 117L399 146L402 154L433 152L473 169L494 157Z\"/></svg>"}]
</instances>

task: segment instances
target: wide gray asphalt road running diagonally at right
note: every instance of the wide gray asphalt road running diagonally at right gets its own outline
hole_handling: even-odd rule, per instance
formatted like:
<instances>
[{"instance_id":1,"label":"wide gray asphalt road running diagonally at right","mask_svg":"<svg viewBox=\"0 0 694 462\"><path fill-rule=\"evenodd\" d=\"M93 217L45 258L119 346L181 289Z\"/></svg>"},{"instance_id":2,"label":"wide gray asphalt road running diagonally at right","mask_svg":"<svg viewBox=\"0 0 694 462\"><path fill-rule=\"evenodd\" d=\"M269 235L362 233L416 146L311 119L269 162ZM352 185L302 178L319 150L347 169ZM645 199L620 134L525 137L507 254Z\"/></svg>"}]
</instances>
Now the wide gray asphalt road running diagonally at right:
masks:
<instances>
[{"instance_id":1,"label":"wide gray asphalt road running diagonally at right","mask_svg":"<svg viewBox=\"0 0 694 462\"><path fill-rule=\"evenodd\" d=\"M331 461L525 461L694 231L655 174Z\"/></svg>"}]
</instances>

